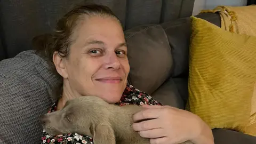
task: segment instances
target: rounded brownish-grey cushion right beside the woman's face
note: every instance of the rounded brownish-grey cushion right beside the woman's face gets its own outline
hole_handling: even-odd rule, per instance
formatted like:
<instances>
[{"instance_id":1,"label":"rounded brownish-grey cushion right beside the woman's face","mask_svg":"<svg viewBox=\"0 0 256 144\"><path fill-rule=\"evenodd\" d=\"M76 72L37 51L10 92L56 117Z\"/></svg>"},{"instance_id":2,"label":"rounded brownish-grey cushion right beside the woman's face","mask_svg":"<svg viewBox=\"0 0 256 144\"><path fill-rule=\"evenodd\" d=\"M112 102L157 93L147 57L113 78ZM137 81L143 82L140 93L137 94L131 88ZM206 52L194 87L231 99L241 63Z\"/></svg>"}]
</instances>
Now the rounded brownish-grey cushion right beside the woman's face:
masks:
<instances>
[{"instance_id":1,"label":"rounded brownish-grey cushion right beside the woman's face","mask_svg":"<svg viewBox=\"0 0 256 144\"><path fill-rule=\"evenodd\" d=\"M135 27L125 31L130 63L129 83L148 94L170 76L172 54L160 25Z\"/></svg>"}]
</instances>

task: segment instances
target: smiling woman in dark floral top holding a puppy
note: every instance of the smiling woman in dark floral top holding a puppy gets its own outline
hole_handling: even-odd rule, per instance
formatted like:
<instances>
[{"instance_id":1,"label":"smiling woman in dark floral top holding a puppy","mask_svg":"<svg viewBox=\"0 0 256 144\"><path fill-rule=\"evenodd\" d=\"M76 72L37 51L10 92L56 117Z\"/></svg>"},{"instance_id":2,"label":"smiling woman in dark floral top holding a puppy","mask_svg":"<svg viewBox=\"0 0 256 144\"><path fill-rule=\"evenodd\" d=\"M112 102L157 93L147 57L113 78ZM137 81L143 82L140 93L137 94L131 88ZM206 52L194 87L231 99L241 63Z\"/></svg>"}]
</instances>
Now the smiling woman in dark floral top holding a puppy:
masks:
<instances>
[{"instance_id":1,"label":"smiling woman in dark floral top holding a puppy","mask_svg":"<svg viewBox=\"0 0 256 144\"><path fill-rule=\"evenodd\" d=\"M35 43L39 42L36 41ZM43 44L42 44L43 43ZM47 35L38 50L48 58L53 70L63 78L60 98L49 113L82 95L94 95L117 105L147 106L133 116L132 125L150 143L214 143L212 131L202 119L188 111L160 106L148 94L127 85L130 71L121 22L108 7L75 7L58 23L54 34ZM135 96L134 96L135 95ZM43 143L93 143L92 138L77 133L52 136L43 132Z\"/></svg>"}]
</instances>

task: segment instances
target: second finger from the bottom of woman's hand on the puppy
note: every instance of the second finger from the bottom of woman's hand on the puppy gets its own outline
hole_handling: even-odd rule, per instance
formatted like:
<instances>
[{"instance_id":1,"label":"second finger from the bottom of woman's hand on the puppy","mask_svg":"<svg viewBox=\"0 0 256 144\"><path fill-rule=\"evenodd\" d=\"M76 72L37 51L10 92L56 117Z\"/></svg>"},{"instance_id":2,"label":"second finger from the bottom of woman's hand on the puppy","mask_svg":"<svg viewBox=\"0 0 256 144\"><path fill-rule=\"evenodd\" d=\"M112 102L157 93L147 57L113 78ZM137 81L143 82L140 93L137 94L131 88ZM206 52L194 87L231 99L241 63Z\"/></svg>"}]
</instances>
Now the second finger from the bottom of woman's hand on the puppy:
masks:
<instances>
[{"instance_id":1,"label":"second finger from the bottom of woman's hand on the puppy","mask_svg":"<svg viewBox=\"0 0 256 144\"><path fill-rule=\"evenodd\" d=\"M132 128L134 131L147 131L151 129L162 128L162 126L158 119L150 119L139 123L133 123Z\"/></svg>"}]
</instances>

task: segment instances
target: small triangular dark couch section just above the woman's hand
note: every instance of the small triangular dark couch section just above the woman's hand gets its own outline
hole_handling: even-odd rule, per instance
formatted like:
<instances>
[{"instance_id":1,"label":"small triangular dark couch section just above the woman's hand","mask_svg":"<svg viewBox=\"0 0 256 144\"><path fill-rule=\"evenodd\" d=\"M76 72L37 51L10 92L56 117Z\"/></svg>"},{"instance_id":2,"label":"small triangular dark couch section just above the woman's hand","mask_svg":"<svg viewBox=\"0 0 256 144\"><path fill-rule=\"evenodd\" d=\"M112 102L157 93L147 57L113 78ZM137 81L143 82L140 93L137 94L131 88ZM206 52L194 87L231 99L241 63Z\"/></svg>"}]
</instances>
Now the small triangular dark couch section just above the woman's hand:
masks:
<instances>
[{"instance_id":1,"label":"small triangular dark couch section just above the woman's hand","mask_svg":"<svg viewBox=\"0 0 256 144\"><path fill-rule=\"evenodd\" d=\"M151 96L163 105L184 109L184 102L172 78L167 79Z\"/></svg>"}]
</instances>

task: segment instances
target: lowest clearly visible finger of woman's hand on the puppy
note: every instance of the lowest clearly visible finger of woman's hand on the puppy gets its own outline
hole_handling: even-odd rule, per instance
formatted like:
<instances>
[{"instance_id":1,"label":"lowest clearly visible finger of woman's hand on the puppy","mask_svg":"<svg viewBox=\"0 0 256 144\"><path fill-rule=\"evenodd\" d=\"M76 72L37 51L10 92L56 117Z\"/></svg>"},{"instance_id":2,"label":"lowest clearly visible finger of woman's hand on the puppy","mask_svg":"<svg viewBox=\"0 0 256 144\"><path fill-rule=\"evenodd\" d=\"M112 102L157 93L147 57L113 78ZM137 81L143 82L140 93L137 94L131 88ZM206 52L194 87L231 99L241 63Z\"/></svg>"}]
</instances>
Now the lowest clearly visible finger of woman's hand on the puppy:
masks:
<instances>
[{"instance_id":1,"label":"lowest clearly visible finger of woman's hand on the puppy","mask_svg":"<svg viewBox=\"0 0 256 144\"><path fill-rule=\"evenodd\" d=\"M141 137L149 138L149 139L166 137L164 129L162 129L162 128L151 129L151 130L147 130L147 131L140 131L139 134L140 134Z\"/></svg>"}]
</instances>

